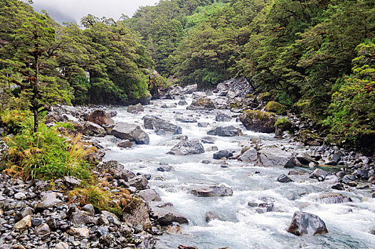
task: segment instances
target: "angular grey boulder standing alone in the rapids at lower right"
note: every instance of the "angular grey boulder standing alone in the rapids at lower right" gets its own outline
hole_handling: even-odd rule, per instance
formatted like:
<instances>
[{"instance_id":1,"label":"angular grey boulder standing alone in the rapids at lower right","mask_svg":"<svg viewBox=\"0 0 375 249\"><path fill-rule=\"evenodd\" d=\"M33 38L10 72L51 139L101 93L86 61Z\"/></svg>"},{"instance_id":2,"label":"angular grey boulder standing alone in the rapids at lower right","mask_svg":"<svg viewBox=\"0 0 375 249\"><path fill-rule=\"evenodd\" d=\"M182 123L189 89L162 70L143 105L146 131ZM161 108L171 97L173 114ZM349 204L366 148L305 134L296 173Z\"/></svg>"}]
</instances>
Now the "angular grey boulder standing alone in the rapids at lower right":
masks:
<instances>
[{"instance_id":1,"label":"angular grey boulder standing alone in the rapids at lower right","mask_svg":"<svg viewBox=\"0 0 375 249\"><path fill-rule=\"evenodd\" d=\"M328 233L324 221L319 216L301 211L295 211L292 223L290 223L287 231L298 236L303 234L317 235Z\"/></svg>"}]
</instances>

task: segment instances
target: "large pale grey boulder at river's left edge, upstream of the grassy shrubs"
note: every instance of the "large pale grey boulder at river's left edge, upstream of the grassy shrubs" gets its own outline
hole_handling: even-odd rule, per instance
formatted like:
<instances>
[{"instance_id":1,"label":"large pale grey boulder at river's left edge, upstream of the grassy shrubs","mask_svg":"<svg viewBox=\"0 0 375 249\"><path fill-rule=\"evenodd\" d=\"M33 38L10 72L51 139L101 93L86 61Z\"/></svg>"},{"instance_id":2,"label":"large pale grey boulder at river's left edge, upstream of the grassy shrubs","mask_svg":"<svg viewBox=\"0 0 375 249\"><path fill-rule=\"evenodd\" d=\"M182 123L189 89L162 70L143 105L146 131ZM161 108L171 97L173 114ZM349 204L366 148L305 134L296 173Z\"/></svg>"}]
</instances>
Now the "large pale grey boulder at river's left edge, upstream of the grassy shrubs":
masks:
<instances>
[{"instance_id":1,"label":"large pale grey boulder at river's left edge, upstream of the grassy shrubs","mask_svg":"<svg viewBox=\"0 0 375 249\"><path fill-rule=\"evenodd\" d=\"M128 139L136 144L149 144L149 135L137 124L119 122L113 127L112 135L120 139Z\"/></svg>"}]
</instances>

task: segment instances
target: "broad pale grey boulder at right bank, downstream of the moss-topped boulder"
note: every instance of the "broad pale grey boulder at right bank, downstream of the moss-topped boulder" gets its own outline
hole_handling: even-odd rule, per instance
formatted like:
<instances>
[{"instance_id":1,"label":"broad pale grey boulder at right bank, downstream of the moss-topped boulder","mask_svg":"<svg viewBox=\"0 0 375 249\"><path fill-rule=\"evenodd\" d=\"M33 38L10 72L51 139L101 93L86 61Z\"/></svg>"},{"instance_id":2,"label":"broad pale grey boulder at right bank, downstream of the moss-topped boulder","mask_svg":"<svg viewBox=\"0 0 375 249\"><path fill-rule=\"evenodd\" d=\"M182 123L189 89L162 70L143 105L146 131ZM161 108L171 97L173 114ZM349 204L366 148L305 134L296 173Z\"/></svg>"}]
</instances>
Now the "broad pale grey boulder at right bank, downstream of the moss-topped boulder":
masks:
<instances>
[{"instance_id":1,"label":"broad pale grey boulder at right bank, downstream of the moss-topped boulder","mask_svg":"<svg viewBox=\"0 0 375 249\"><path fill-rule=\"evenodd\" d=\"M258 159L255 166L283 166L289 167L292 153L285 152L277 147L264 147L258 152Z\"/></svg>"}]
</instances>

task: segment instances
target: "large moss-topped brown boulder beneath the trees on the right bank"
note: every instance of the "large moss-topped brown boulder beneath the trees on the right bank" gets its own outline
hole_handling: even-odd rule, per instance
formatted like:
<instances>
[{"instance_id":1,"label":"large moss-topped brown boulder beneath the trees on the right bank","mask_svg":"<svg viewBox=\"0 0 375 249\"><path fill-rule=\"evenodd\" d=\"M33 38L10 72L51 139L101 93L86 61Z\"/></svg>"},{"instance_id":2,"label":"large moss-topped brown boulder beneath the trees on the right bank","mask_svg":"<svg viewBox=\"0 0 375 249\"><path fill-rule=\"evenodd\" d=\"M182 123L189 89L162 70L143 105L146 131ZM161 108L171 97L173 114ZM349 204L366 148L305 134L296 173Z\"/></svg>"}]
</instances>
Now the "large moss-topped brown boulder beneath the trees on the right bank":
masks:
<instances>
[{"instance_id":1,"label":"large moss-topped brown boulder beneath the trees on the right bank","mask_svg":"<svg viewBox=\"0 0 375 249\"><path fill-rule=\"evenodd\" d=\"M258 110L247 110L240 115L240 121L254 132L275 132L275 114L271 112L261 112Z\"/></svg>"}]
</instances>

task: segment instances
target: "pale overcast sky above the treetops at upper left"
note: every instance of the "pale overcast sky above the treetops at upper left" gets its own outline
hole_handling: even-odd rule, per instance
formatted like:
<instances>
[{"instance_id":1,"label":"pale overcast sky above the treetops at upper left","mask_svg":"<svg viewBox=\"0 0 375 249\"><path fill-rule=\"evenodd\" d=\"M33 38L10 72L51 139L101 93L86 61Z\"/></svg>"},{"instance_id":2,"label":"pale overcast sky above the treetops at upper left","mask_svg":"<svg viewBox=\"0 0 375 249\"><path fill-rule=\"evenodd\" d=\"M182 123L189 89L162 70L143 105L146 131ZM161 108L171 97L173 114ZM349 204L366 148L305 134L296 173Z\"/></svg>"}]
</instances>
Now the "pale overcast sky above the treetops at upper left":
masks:
<instances>
[{"instance_id":1,"label":"pale overcast sky above the treetops at upper left","mask_svg":"<svg viewBox=\"0 0 375 249\"><path fill-rule=\"evenodd\" d=\"M80 22L80 18L93 14L97 17L114 18L121 14L132 16L139 6L154 5L159 0L33 0L36 11L46 9L56 21Z\"/></svg>"}]
</instances>

